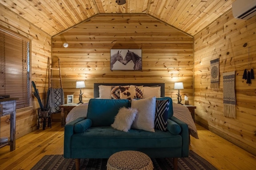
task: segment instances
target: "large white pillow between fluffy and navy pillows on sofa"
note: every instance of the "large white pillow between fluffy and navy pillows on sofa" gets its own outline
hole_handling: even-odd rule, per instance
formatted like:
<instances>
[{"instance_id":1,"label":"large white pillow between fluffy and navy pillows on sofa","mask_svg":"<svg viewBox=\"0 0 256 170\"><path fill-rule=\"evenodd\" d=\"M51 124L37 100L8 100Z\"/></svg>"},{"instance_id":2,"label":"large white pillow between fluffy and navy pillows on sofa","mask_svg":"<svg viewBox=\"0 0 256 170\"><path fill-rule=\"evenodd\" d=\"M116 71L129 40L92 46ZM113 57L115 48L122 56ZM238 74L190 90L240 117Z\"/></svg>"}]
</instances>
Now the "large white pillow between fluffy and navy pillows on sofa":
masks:
<instances>
[{"instance_id":1,"label":"large white pillow between fluffy and navy pillows on sofa","mask_svg":"<svg viewBox=\"0 0 256 170\"><path fill-rule=\"evenodd\" d=\"M132 128L155 132L156 97L140 100L133 99L131 107L138 110L138 114L132 123Z\"/></svg>"}]
</instances>

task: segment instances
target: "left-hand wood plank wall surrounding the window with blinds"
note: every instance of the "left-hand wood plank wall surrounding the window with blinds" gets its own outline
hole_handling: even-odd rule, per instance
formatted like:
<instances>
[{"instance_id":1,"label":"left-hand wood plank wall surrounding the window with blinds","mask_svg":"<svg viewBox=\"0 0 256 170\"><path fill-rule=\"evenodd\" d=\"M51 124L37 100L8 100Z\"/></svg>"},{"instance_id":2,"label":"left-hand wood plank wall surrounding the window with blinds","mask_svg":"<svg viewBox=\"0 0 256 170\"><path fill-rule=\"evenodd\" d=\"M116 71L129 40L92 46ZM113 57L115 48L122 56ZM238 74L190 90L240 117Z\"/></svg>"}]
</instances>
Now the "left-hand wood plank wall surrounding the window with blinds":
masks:
<instances>
[{"instance_id":1,"label":"left-hand wood plank wall surrounding the window with blinds","mask_svg":"<svg viewBox=\"0 0 256 170\"><path fill-rule=\"evenodd\" d=\"M31 74L32 80L40 92L44 102L45 92L48 89L47 62L51 61L51 36L35 27L32 23L20 18L4 6L0 5L0 25L10 31L32 39L31 43ZM32 86L31 86L32 89ZM16 110L16 138L34 131L37 127L36 109L39 107L37 99L31 93L31 107ZM15 96L13 96L15 97ZM10 116L1 117L1 136L10 135Z\"/></svg>"}]
</instances>

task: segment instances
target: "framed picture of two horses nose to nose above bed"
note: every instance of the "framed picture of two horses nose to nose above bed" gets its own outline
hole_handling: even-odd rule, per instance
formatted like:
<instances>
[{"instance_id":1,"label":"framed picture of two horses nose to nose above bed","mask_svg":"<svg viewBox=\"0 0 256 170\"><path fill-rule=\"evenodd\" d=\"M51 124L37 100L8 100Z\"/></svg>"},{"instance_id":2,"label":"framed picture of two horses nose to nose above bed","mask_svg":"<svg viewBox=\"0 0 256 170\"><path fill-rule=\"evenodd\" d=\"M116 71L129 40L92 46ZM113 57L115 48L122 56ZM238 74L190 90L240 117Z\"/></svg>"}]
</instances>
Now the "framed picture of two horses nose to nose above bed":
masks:
<instances>
[{"instance_id":1,"label":"framed picture of two horses nose to nose above bed","mask_svg":"<svg viewBox=\"0 0 256 170\"><path fill-rule=\"evenodd\" d=\"M142 49L111 49L110 70L142 70Z\"/></svg>"}]
</instances>

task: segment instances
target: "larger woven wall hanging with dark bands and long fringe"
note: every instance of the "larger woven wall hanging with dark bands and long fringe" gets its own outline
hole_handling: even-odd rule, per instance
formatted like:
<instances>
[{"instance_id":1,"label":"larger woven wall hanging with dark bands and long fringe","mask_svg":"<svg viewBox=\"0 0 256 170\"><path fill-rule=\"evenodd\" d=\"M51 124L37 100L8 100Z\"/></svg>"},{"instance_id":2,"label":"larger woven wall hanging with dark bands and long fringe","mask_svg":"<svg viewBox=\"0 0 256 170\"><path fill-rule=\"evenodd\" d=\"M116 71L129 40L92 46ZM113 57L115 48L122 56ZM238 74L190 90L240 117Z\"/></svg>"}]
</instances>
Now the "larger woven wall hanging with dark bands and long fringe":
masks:
<instances>
[{"instance_id":1,"label":"larger woven wall hanging with dark bands and long fringe","mask_svg":"<svg viewBox=\"0 0 256 170\"><path fill-rule=\"evenodd\" d=\"M235 71L223 73L223 114L236 118Z\"/></svg>"}]
</instances>

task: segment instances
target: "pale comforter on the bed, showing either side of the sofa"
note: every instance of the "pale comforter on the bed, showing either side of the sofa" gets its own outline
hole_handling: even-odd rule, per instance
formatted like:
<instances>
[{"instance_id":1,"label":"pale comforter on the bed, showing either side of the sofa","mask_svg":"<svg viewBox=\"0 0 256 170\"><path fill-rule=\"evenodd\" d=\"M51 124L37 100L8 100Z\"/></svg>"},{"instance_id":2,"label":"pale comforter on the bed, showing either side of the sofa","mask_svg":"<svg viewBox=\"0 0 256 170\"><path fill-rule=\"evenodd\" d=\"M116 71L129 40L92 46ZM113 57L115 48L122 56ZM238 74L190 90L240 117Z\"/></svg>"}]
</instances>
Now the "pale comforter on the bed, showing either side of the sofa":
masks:
<instances>
[{"instance_id":1,"label":"pale comforter on the bed, showing either side of the sofa","mask_svg":"<svg viewBox=\"0 0 256 170\"><path fill-rule=\"evenodd\" d=\"M182 106L181 104L172 103L173 106L173 115L177 117L181 121L188 124L188 129L190 135L196 139L198 138L198 133L196 130L196 125L192 119L192 115L190 114L187 107ZM79 117L86 117L88 109L88 103L80 104L79 106L74 107L66 117L66 123L69 123Z\"/></svg>"}]
</instances>

